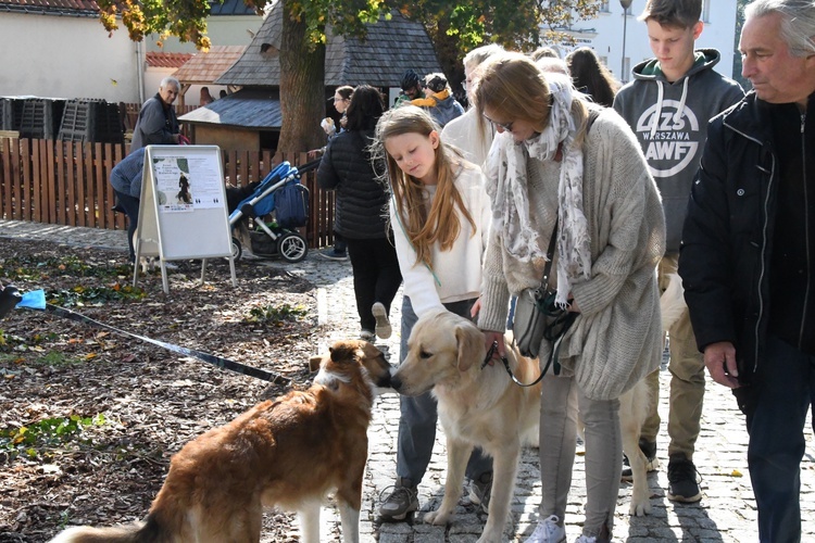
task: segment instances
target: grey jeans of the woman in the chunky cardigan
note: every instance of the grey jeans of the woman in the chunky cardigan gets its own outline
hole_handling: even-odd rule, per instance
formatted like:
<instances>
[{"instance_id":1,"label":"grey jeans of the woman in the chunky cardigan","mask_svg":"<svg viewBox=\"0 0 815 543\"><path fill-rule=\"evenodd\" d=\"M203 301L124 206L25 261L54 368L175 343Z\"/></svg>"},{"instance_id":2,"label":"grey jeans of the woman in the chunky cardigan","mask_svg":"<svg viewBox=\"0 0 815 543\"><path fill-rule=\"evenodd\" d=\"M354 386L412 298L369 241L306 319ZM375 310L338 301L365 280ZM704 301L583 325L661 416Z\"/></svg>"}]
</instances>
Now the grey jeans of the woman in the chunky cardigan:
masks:
<instances>
[{"instance_id":1,"label":"grey jeans of the woman in the chunky cardigan","mask_svg":"<svg viewBox=\"0 0 815 543\"><path fill-rule=\"evenodd\" d=\"M566 514L579 409L586 438L587 502L582 533L598 536L598 541L607 535L610 541L623 463L619 400L591 400L582 393L575 378L552 374L543 378L541 394L540 518L556 515L562 522Z\"/></svg>"}]
</instances>

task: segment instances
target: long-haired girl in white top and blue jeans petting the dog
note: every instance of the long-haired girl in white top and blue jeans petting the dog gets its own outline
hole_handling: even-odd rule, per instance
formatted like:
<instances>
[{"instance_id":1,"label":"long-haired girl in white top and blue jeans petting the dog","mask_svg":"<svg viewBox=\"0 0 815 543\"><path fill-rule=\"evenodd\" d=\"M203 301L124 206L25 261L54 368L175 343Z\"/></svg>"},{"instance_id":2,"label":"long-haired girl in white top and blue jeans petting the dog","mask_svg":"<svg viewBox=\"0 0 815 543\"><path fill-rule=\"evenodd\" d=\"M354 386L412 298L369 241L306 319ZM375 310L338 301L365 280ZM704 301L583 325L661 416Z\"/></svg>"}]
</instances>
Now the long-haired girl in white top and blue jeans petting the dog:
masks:
<instances>
[{"instance_id":1,"label":"long-haired girl in white top and blue jeans petting the dog","mask_svg":"<svg viewBox=\"0 0 815 543\"><path fill-rule=\"evenodd\" d=\"M376 149L387 164L390 222L404 280L400 362L418 317L450 311L472 318L479 295L490 204L481 171L441 141L422 109L386 112L376 127ZM436 401L430 393L400 397L397 481L379 508L381 520L402 520L418 509L416 488L436 440ZM487 509L492 463L476 449L467 466L471 500Z\"/></svg>"}]
</instances>

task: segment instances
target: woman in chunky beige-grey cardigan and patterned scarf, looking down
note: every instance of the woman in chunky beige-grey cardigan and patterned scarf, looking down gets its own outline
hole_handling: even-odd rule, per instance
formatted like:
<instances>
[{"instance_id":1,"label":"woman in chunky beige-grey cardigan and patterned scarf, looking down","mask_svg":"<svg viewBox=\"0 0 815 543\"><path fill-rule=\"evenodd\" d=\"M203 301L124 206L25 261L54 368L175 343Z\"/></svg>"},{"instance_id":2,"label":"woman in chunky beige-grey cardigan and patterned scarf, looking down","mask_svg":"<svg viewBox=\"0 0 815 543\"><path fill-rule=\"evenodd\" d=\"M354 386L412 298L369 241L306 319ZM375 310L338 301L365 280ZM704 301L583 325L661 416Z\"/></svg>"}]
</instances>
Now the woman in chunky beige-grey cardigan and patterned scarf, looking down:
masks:
<instances>
[{"instance_id":1,"label":"woman in chunky beige-grey cardigan and patterned scarf, looking down","mask_svg":"<svg viewBox=\"0 0 815 543\"><path fill-rule=\"evenodd\" d=\"M581 100L568 78L506 53L481 66L475 99L500 132L486 166L493 223L478 326L503 353L510 295L540 285L555 227L549 287L554 303L576 314L554 361L559 374L553 364L543 378L542 498L527 541L565 541L578 409L588 487L578 542L610 541L623 460L617 399L655 369L662 348L660 197L625 122ZM551 352L543 339L541 366Z\"/></svg>"}]
</instances>

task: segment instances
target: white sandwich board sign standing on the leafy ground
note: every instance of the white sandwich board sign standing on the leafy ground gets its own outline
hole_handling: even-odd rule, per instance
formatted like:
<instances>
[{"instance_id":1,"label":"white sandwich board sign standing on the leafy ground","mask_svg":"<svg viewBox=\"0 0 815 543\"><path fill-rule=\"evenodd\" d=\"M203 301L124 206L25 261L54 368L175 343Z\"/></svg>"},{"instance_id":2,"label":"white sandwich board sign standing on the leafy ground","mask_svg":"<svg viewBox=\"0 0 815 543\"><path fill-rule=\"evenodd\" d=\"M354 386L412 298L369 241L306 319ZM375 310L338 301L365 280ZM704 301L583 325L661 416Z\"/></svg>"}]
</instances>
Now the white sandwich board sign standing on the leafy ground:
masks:
<instances>
[{"instance_id":1,"label":"white sandwich board sign standing on the leafy ground","mask_svg":"<svg viewBox=\"0 0 815 543\"><path fill-rule=\"evenodd\" d=\"M134 250L133 286L139 258L158 256L164 293L170 293L167 261L227 257L233 287L235 260L217 146L148 146L141 174L139 226Z\"/></svg>"}]
</instances>

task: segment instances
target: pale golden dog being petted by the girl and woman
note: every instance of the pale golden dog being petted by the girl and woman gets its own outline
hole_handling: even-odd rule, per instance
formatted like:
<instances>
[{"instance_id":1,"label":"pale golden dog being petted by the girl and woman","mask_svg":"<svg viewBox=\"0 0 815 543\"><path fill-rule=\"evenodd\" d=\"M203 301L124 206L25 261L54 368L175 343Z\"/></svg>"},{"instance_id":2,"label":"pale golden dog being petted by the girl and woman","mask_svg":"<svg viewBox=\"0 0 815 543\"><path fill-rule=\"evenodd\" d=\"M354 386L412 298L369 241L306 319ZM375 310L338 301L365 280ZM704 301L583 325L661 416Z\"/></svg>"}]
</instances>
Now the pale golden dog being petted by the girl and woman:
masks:
<instances>
[{"instance_id":1,"label":"pale golden dog being petted by the girl and woman","mask_svg":"<svg viewBox=\"0 0 815 543\"><path fill-rule=\"evenodd\" d=\"M464 469L474 445L493 458L492 497L479 542L499 542L515 488L522 440L537 442L540 383L522 388L503 365L481 368L486 357L481 331L449 312L418 319L408 342L408 356L392 377L401 394L429 390L438 400L439 420L447 437L448 475L444 497L425 522L448 523L462 494ZM522 382L540 374L537 361L524 358L506 342L510 367Z\"/></svg>"}]
</instances>

